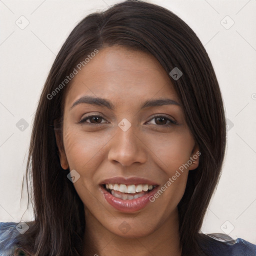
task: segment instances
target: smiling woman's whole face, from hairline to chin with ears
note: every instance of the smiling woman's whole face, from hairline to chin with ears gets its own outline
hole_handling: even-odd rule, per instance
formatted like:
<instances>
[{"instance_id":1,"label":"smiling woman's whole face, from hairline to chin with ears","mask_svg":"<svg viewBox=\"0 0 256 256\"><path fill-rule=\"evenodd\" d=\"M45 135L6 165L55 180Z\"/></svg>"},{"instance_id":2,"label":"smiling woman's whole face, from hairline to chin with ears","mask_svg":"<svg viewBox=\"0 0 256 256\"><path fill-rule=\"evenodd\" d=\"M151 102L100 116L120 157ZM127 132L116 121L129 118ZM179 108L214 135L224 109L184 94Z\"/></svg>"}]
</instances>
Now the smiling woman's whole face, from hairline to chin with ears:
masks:
<instances>
[{"instance_id":1,"label":"smiling woman's whole face, from hairline to chin with ears","mask_svg":"<svg viewBox=\"0 0 256 256\"><path fill-rule=\"evenodd\" d=\"M70 86L57 143L85 218L126 237L176 220L198 148L163 67L150 54L106 47Z\"/></svg>"}]
</instances>

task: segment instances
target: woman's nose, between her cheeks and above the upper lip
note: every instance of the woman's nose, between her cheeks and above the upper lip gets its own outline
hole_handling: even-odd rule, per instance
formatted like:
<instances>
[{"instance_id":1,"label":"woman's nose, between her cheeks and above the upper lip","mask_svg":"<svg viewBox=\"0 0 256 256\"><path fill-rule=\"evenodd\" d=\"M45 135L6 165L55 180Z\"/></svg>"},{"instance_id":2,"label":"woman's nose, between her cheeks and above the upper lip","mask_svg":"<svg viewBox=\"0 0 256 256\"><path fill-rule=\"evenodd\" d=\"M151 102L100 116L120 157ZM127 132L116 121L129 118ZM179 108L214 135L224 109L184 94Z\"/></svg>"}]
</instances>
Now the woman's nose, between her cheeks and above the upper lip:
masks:
<instances>
[{"instance_id":1,"label":"woman's nose, between her cheeks and above the upper lip","mask_svg":"<svg viewBox=\"0 0 256 256\"><path fill-rule=\"evenodd\" d=\"M144 163L147 158L146 146L131 127L123 131L117 127L116 134L111 139L108 160L129 166L132 163Z\"/></svg>"}]
</instances>

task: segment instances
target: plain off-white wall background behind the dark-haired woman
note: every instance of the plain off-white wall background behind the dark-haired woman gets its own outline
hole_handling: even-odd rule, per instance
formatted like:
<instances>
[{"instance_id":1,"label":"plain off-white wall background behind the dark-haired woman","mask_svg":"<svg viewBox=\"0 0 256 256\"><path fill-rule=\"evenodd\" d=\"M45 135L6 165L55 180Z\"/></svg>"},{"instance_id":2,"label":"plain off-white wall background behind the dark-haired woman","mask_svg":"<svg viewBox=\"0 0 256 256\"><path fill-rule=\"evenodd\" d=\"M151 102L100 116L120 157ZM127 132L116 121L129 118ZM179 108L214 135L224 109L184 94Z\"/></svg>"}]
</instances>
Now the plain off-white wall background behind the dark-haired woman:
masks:
<instances>
[{"instance_id":1,"label":"plain off-white wall background behind the dark-haired woman","mask_svg":"<svg viewBox=\"0 0 256 256\"><path fill-rule=\"evenodd\" d=\"M23 177L33 114L55 55L85 15L117 2L0 0L0 221L33 218ZM195 31L224 99L226 156L202 231L256 244L256 0L148 2L173 11Z\"/></svg>"}]
</instances>

